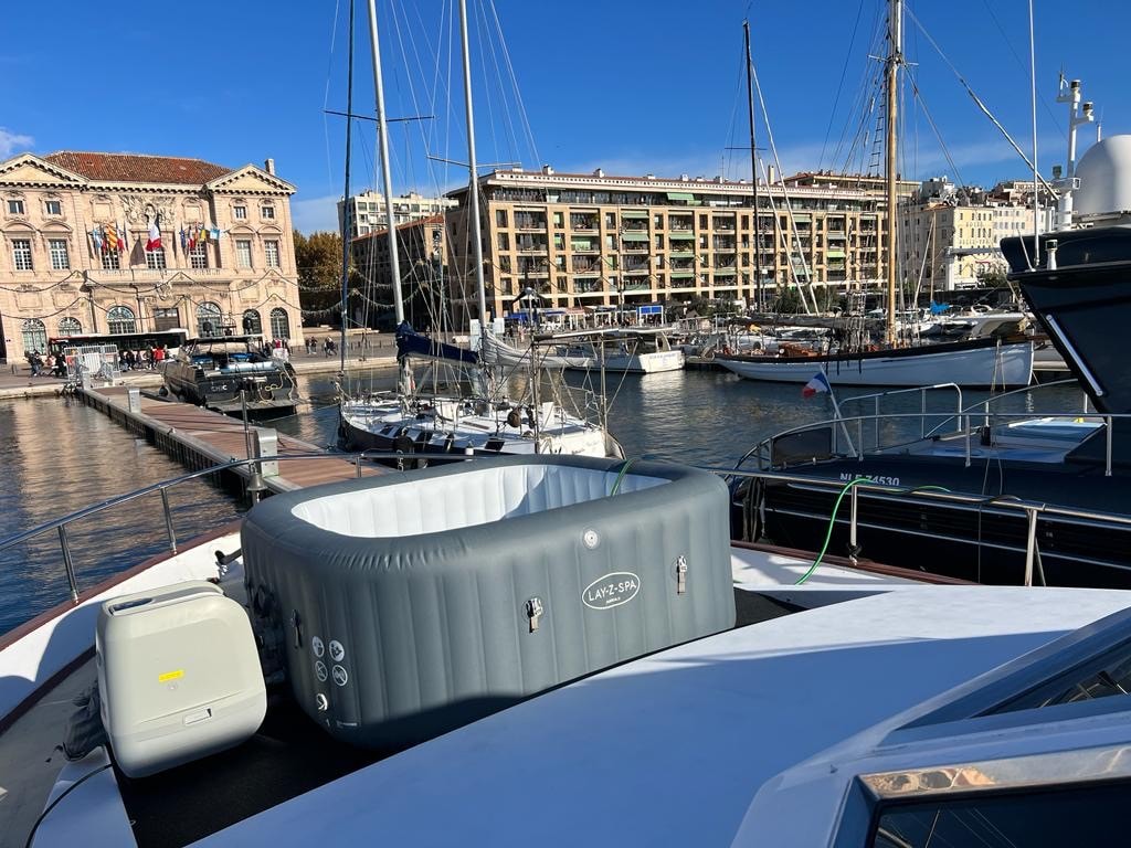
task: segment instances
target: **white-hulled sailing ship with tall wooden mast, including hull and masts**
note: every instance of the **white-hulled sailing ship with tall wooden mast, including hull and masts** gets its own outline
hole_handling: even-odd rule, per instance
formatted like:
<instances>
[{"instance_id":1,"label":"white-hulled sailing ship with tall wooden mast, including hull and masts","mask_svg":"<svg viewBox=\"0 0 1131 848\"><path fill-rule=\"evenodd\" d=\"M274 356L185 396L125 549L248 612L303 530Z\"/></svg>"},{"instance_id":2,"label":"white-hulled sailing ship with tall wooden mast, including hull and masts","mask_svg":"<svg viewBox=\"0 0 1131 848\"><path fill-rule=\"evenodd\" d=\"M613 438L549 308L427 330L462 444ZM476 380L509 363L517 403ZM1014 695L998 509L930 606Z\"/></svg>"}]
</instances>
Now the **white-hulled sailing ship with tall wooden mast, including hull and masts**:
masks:
<instances>
[{"instance_id":1,"label":"white-hulled sailing ship with tall wooden mast, including hull and masts","mask_svg":"<svg viewBox=\"0 0 1131 848\"><path fill-rule=\"evenodd\" d=\"M805 383L815 372L824 374L831 386L906 387L932 383L956 383L962 388L1019 388L1033 377L1033 343L1009 339L972 339L953 344L897 346L896 276L898 272L896 241L896 153L897 94L903 57L903 0L889 0L888 57L886 72L887 120L887 266L888 309L887 339L882 346L858 346L852 351L827 354L806 352L802 356L763 354L716 355L715 362L748 380ZM752 75L750 45L746 43L748 86ZM753 99L750 102L753 114ZM753 119L751 118L751 127ZM751 145L753 147L753 145ZM753 152L752 152L753 157ZM758 184L756 168L754 185ZM757 190L757 189L756 189ZM756 200L757 202L757 200ZM757 214L756 214L757 219ZM756 256L758 251L756 250Z\"/></svg>"}]
</instances>

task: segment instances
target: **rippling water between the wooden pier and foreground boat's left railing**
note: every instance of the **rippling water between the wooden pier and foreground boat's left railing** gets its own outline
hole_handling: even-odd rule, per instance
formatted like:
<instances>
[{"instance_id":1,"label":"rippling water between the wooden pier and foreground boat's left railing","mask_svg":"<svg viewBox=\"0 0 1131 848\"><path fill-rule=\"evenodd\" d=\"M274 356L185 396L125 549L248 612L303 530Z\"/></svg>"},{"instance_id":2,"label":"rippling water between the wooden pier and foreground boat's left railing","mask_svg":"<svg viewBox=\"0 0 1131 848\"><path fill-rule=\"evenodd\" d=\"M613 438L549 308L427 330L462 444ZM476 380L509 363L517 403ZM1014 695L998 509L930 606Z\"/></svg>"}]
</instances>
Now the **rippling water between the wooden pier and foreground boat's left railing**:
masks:
<instances>
[{"instance_id":1,"label":"rippling water between the wooden pier and foreground boat's left railing","mask_svg":"<svg viewBox=\"0 0 1131 848\"><path fill-rule=\"evenodd\" d=\"M0 536L169 479L184 468L157 448L78 401L0 403ZM193 481L170 494L178 537L231 520L239 505ZM161 496L86 519L68 534L80 588L165 550ZM0 632L68 597L59 537L50 531L0 552Z\"/></svg>"}]
</instances>

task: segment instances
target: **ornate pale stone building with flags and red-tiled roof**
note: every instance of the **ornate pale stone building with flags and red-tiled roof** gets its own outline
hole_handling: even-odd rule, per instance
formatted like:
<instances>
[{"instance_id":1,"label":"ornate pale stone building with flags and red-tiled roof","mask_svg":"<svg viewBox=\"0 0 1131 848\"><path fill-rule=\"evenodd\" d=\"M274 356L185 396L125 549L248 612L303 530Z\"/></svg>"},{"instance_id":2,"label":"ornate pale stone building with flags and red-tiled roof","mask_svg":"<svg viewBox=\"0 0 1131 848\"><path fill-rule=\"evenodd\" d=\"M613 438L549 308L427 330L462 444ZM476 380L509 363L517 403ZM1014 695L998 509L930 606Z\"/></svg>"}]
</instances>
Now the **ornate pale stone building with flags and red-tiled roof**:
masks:
<instances>
[{"instance_id":1,"label":"ornate pale stone building with flags and red-tiled roof","mask_svg":"<svg viewBox=\"0 0 1131 848\"><path fill-rule=\"evenodd\" d=\"M0 162L0 354L78 334L302 338L295 188L262 168L61 152ZM157 246L153 235L159 235Z\"/></svg>"}]
</instances>

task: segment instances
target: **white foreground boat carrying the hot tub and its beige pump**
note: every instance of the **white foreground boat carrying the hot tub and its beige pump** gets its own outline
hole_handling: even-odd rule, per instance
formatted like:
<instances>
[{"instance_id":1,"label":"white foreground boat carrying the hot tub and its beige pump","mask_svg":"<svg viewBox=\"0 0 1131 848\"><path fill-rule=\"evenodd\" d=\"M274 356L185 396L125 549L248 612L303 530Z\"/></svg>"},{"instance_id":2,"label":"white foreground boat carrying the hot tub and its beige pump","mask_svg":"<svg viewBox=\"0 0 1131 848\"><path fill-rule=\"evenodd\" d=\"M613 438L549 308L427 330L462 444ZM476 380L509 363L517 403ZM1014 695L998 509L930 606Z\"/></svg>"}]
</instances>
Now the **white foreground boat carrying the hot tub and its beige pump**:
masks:
<instances>
[{"instance_id":1,"label":"white foreground boat carrying the hot tub and its beige pump","mask_svg":"<svg viewBox=\"0 0 1131 848\"><path fill-rule=\"evenodd\" d=\"M1131 596L798 585L725 500L546 458L276 495L0 639L5 843L528 845L500 804L598 846L1110 832L1055 802L1125 781Z\"/></svg>"}]
</instances>

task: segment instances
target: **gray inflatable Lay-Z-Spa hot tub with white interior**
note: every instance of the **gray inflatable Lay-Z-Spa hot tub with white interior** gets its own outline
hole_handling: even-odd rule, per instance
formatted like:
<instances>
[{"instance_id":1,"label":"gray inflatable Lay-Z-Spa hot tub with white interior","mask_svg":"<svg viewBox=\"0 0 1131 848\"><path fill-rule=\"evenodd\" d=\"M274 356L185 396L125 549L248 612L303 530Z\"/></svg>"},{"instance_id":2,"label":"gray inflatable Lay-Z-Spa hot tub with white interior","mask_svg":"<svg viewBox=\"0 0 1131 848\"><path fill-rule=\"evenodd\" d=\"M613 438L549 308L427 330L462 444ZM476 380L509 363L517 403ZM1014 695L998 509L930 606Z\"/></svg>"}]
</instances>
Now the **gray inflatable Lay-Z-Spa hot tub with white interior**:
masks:
<instances>
[{"instance_id":1,"label":"gray inflatable Lay-Z-Spa hot tub with white interior","mask_svg":"<svg viewBox=\"0 0 1131 848\"><path fill-rule=\"evenodd\" d=\"M728 529L706 471L508 457L275 495L241 539L301 707L383 749L733 628Z\"/></svg>"}]
</instances>

